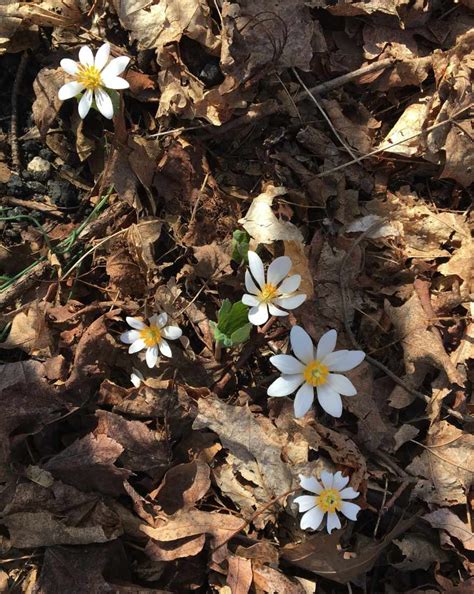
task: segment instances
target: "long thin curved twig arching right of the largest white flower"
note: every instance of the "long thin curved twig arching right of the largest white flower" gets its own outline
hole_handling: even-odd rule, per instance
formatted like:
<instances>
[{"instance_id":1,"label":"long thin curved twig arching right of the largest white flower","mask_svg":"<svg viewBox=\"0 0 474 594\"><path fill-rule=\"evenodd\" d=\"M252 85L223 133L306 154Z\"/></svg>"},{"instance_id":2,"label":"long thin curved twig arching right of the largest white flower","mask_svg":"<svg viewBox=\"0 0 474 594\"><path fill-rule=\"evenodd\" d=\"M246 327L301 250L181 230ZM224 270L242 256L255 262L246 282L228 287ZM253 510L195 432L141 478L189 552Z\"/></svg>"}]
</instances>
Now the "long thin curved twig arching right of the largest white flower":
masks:
<instances>
[{"instance_id":1,"label":"long thin curved twig arching right of the largest white flower","mask_svg":"<svg viewBox=\"0 0 474 594\"><path fill-rule=\"evenodd\" d=\"M370 233L372 233L372 231L374 231L375 229L378 229L379 227L381 227L385 223L386 223L386 221L383 219L382 221L378 221L374 225L371 225L366 231L364 231L364 233L362 233L354 241L354 243L351 245L350 249L347 251L347 253L343 257L343 259L341 261L341 267L339 269L339 290L341 292L342 312L343 312L343 315L344 315L344 328L346 330L347 336L349 337L349 340L352 343L352 346L355 349L358 349L358 350L361 350L361 346L357 342L357 340L356 340L356 338L355 338L355 336L354 336L354 334L352 332L352 328L351 328L351 325L349 323L349 317L348 317L348 314L347 314L347 295L346 295L346 282L344 280L344 269L345 269L346 262L349 260L350 256L352 255L352 252L355 250L355 248L364 239L366 239L366 237ZM367 354L365 356L365 359L366 359L366 361L368 361L369 363L371 363L372 365L374 365L375 367L377 367L378 369L380 369L380 371L383 371L385 373L385 375L387 375L396 384L398 384L399 386L401 386L409 394L413 394L417 398L421 398L427 404L430 404L431 403L431 398L429 396L427 396L426 394L423 394L422 392L418 392L418 390L415 390L414 388L412 388L409 384L407 384L405 381L403 381L401 378L399 378L398 375L396 375L395 373L393 373L393 371L391 371L383 363L380 363L380 361L378 361L377 359L374 359L373 357L371 357L370 355L367 355ZM443 408L446 410L446 412L448 412L455 419L458 419L458 421L466 421L466 422L467 421L471 421L471 417L469 415L463 415L462 413L460 413L460 412L458 412L456 410L453 410L452 408L450 408L449 406L446 406L444 404L443 404Z\"/></svg>"}]
</instances>

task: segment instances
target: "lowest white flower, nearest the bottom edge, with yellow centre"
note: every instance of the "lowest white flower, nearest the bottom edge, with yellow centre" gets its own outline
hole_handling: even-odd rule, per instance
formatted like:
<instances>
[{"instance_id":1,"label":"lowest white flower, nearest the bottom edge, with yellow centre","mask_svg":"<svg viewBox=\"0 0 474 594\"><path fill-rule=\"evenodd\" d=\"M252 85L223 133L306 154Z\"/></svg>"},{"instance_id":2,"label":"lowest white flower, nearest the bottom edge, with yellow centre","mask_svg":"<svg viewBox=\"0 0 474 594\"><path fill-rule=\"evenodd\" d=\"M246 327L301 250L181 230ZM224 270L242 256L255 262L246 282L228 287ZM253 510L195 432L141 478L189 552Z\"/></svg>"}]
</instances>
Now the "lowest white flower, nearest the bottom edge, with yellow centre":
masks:
<instances>
[{"instance_id":1,"label":"lowest white flower, nearest the bottom edge, with yellow centre","mask_svg":"<svg viewBox=\"0 0 474 594\"><path fill-rule=\"evenodd\" d=\"M301 518L302 530L317 530L327 513L326 528L329 534L341 527L341 522L336 512L341 512L349 518L356 520L360 511L360 506L355 503L349 503L344 499L355 499L359 493L352 487L346 487L349 477L342 476L341 472L321 472L322 485L314 477L299 475L300 484L303 489L310 491L315 495L301 495L294 500L298 504Z\"/></svg>"}]
</instances>

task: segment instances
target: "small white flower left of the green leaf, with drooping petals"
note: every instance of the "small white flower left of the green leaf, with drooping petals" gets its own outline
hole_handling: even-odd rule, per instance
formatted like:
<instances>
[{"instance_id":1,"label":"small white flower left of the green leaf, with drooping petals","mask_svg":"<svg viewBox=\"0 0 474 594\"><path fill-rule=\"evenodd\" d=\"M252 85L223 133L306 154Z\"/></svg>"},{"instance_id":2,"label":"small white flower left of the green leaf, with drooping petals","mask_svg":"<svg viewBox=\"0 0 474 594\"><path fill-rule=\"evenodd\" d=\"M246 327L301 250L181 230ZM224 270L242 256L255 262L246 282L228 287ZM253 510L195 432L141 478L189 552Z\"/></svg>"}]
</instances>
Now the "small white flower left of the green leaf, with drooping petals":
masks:
<instances>
[{"instance_id":1,"label":"small white flower left of the green leaf, with drooping petals","mask_svg":"<svg viewBox=\"0 0 474 594\"><path fill-rule=\"evenodd\" d=\"M172 352L165 339L176 340L182 335L178 326L167 326L168 315L161 313L151 316L148 325L137 318L127 317L127 324L133 328L120 336L120 340L129 344L129 353L138 353L146 349L146 364L151 369L158 361L158 350L165 357L171 357Z\"/></svg>"}]
</instances>

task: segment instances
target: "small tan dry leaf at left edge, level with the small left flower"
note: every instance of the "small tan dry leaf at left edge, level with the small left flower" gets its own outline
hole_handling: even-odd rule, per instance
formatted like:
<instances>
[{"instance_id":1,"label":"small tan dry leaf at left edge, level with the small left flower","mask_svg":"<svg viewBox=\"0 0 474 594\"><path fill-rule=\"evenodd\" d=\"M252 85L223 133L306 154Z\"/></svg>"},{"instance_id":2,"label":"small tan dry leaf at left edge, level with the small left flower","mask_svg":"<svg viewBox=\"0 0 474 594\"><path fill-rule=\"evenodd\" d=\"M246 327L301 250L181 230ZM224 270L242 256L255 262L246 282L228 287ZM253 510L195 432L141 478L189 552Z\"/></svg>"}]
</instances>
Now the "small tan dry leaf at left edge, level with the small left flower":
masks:
<instances>
[{"instance_id":1,"label":"small tan dry leaf at left edge, level with the small left flower","mask_svg":"<svg viewBox=\"0 0 474 594\"><path fill-rule=\"evenodd\" d=\"M53 338L46 323L48 303L33 302L28 310L18 313L12 322L10 333L0 344L2 349L21 349L31 355L50 356Z\"/></svg>"}]
</instances>

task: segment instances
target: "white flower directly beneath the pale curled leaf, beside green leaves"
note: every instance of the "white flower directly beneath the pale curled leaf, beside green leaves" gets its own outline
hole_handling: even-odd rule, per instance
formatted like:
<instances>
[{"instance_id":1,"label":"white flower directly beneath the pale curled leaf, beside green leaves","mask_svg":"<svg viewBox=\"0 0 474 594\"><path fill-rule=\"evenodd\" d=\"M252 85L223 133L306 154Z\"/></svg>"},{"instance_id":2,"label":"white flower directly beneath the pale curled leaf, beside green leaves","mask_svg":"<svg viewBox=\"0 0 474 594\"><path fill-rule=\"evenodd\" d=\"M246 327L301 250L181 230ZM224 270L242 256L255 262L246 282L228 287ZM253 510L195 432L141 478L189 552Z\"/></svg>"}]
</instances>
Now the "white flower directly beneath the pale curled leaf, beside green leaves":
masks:
<instances>
[{"instance_id":1,"label":"white flower directly beneath the pale curled leaf, beside green leaves","mask_svg":"<svg viewBox=\"0 0 474 594\"><path fill-rule=\"evenodd\" d=\"M266 278L260 256L249 251L248 257L250 270L245 272L245 288L248 293L242 297L242 303L250 307L249 321L254 326L265 324L269 315L287 316L288 312L279 309L280 307L295 309L303 303L306 295L296 294L301 276L294 274L288 277L292 266L288 256L273 260L268 267Z\"/></svg>"}]
</instances>

